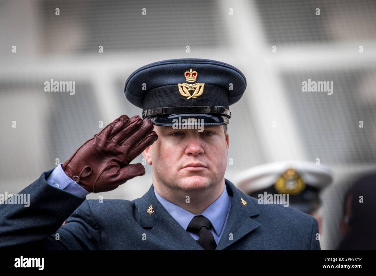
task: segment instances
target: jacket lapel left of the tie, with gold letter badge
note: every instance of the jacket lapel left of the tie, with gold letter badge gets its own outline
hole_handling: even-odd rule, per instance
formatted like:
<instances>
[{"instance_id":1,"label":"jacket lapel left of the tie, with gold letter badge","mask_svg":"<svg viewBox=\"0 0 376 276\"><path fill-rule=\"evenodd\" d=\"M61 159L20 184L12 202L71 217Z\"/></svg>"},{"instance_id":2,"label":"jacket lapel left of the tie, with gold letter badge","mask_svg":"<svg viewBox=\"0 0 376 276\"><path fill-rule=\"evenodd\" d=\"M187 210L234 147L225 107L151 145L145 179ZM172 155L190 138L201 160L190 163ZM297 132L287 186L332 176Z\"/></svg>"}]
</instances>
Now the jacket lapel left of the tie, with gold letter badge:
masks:
<instances>
[{"instance_id":1,"label":"jacket lapel left of the tie, with gold letter badge","mask_svg":"<svg viewBox=\"0 0 376 276\"><path fill-rule=\"evenodd\" d=\"M174 244L174 250L204 250L158 201L153 184L136 203L136 206L140 225L143 228L157 228L156 230L164 233L159 238L161 243ZM177 242L173 243L172 241Z\"/></svg>"}]
</instances>

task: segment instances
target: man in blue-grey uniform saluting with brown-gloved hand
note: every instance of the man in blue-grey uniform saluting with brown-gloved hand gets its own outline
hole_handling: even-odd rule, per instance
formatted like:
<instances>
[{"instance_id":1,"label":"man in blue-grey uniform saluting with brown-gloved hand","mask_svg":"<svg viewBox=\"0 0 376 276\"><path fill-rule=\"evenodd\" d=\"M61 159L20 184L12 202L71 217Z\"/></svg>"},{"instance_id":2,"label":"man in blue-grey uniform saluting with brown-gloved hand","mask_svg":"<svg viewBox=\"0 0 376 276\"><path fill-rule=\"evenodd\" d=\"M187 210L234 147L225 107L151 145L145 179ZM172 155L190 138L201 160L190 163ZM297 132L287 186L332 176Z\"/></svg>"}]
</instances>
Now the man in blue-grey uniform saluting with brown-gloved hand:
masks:
<instances>
[{"instance_id":1,"label":"man in blue-grey uniform saluting with brown-gloved hand","mask_svg":"<svg viewBox=\"0 0 376 276\"><path fill-rule=\"evenodd\" d=\"M320 250L314 217L259 205L224 178L229 106L245 89L241 71L215 60L137 69L124 92L143 118L120 116L64 164L43 172L21 191L30 194L29 208L0 205L0 247ZM144 175L141 163L129 164L141 153L153 179L143 197L85 199Z\"/></svg>"}]
</instances>

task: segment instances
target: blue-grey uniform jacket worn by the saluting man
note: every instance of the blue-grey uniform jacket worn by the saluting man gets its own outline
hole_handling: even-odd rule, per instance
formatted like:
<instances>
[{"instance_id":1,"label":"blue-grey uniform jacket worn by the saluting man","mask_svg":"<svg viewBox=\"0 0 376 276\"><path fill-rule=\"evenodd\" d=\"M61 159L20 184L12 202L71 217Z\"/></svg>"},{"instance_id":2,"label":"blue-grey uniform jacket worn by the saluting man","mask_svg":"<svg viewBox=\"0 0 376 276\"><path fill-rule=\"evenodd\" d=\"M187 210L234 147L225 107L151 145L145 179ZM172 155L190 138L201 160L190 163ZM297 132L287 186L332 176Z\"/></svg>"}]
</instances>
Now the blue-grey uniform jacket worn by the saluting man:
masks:
<instances>
[{"instance_id":1,"label":"blue-grey uniform jacket worn by the saluting man","mask_svg":"<svg viewBox=\"0 0 376 276\"><path fill-rule=\"evenodd\" d=\"M29 207L0 204L0 248L204 250L158 201L153 184L141 198L99 202L49 185L45 178L52 170L19 193L30 194ZM232 202L216 250L320 250L314 217L258 204L229 180L225 184ZM154 212L147 212L150 205Z\"/></svg>"}]
</instances>

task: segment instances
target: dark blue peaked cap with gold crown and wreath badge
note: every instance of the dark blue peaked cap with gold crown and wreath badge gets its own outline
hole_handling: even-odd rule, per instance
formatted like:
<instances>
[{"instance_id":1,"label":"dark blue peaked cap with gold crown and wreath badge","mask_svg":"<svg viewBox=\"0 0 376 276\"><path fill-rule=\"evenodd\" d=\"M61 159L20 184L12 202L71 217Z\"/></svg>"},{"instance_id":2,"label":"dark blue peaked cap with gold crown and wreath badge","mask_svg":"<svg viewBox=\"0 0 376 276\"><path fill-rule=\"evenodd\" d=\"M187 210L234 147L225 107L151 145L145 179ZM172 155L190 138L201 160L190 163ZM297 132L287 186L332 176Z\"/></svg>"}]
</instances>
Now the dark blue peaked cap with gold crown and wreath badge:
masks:
<instances>
[{"instance_id":1,"label":"dark blue peaked cap with gold crown and wreath badge","mask_svg":"<svg viewBox=\"0 0 376 276\"><path fill-rule=\"evenodd\" d=\"M240 100L246 86L243 73L227 63L170 59L134 71L124 93L155 125L173 125L179 116L202 119L204 125L225 125L231 118L229 106Z\"/></svg>"}]
</instances>

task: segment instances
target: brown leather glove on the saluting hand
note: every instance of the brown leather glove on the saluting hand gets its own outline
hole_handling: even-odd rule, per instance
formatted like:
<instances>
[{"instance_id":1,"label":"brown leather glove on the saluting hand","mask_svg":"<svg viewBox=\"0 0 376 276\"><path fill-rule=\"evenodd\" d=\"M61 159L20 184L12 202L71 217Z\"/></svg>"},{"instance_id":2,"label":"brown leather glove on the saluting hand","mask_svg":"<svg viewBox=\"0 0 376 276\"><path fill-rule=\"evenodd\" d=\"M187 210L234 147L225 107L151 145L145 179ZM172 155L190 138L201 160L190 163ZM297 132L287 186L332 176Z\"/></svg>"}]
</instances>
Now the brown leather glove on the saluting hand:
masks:
<instances>
[{"instance_id":1,"label":"brown leather glove on the saluting hand","mask_svg":"<svg viewBox=\"0 0 376 276\"><path fill-rule=\"evenodd\" d=\"M86 141L62 168L86 191L107 192L128 179L145 174L143 164L130 164L158 139L149 119L121 115Z\"/></svg>"}]
</instances>

